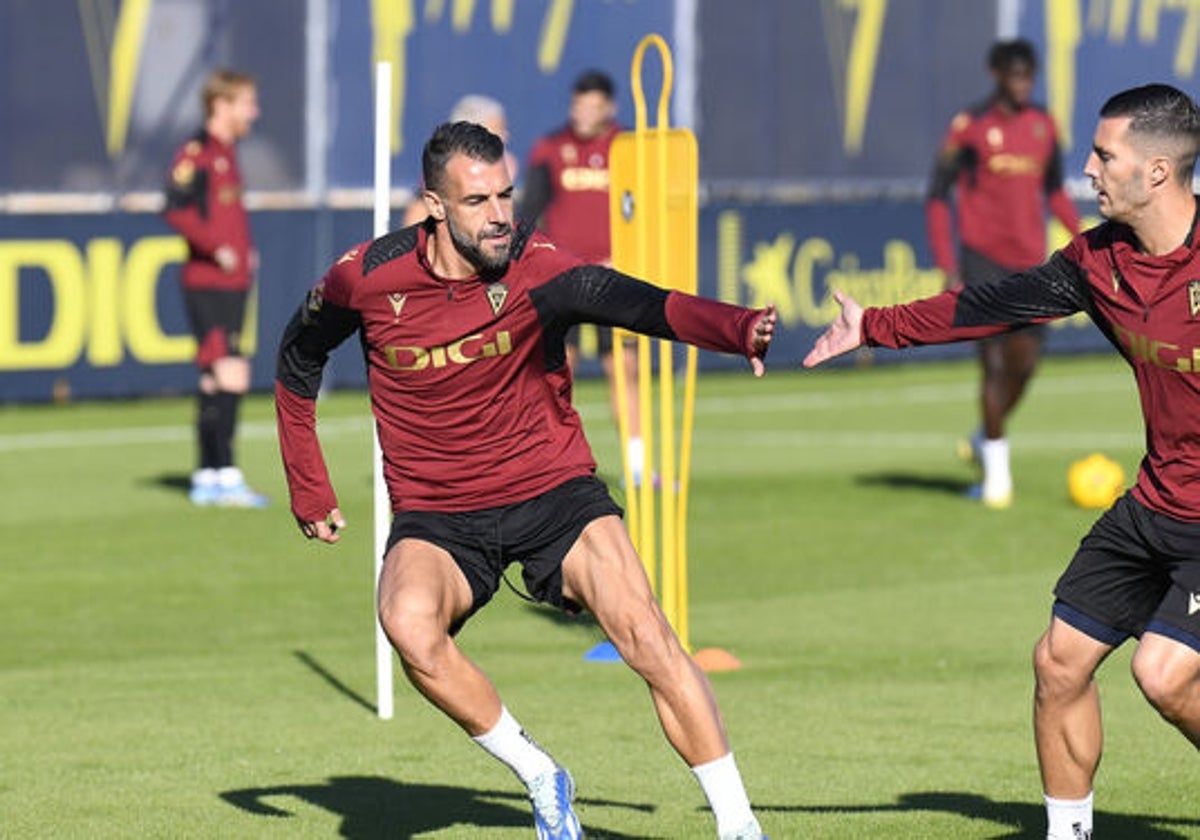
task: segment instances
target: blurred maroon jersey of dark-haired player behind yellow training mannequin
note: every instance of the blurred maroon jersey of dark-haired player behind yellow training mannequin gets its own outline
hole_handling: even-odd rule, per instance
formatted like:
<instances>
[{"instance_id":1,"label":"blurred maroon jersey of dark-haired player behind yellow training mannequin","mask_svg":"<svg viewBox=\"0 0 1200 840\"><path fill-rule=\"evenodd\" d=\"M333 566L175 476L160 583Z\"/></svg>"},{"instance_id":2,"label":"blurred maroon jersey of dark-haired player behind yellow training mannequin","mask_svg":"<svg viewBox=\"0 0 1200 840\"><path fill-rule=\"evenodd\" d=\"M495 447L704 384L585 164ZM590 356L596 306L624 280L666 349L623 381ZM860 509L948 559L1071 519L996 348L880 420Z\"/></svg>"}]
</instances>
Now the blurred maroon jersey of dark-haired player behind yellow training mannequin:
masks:
<instances>
[{"instance_id":1,"label":"blurred maroon jersey of dark-haired player behind yellow training mannequin","mask_svg":"<svg viewBox=\"0 0 1200 840\"><path fill-rule=\"evenodd\" d=\"M570 126L548 134L529 154L527 193L518 217L536 222L552 240L589 263L612 260L608 233L608 149L612 126L590 140Z\"/></svg>"}]
</instances>

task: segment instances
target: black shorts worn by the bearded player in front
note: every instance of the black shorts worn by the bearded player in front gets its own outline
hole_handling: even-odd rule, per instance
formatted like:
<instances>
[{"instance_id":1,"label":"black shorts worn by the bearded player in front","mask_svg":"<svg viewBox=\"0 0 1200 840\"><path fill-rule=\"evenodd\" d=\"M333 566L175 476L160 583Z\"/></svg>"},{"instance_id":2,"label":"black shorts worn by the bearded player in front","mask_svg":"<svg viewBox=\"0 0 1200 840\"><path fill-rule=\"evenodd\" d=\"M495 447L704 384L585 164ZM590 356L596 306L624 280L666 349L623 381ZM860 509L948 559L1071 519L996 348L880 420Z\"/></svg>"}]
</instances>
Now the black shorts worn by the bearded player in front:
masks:
<instances>
[{"instance_id":1,"label":"black shorts worn by the bearded player in front","mask_svg":"<svg viewBox=\"0 0 1200 840\"><path fill-rule=\"evenodd\" d=\"M521 564L533 600L578 612L577 604L563 598L563 558L589 522L623 515L604 482L583 475L499 508L460 514L402 510L392 518L388 551L400 540L419 539L450 552L472 593L470 610L451 628L457 632L492 600L510 563Z\"/></svg>"}]
</instances>

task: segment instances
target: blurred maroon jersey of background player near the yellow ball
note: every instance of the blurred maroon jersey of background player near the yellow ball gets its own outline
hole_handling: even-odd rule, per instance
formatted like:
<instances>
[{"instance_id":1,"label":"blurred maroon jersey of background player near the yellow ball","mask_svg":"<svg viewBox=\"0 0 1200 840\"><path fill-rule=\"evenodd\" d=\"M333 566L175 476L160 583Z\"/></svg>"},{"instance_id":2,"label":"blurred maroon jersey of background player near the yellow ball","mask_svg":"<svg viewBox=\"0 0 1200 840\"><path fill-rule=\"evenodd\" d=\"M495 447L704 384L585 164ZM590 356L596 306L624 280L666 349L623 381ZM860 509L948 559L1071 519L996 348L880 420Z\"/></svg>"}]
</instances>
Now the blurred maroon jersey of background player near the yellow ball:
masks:
<instances>
[{"instance_id":1,"label":"blurred maroon jersey of background player near the yellow ball","mask_svg":"<svg viewBox=\"0 0 1200 840\"><path fill-rule=\"evenodd\" d=\"M960 112L942 142L925 205L934 262L958 266L949 197L954 190L959 241L1013 271L1046 256L1046 209L1072 233L1079 215L1062 188L1054 120L1037 106L1006 110L995 100Z\"/></svg>"}]
</instances>

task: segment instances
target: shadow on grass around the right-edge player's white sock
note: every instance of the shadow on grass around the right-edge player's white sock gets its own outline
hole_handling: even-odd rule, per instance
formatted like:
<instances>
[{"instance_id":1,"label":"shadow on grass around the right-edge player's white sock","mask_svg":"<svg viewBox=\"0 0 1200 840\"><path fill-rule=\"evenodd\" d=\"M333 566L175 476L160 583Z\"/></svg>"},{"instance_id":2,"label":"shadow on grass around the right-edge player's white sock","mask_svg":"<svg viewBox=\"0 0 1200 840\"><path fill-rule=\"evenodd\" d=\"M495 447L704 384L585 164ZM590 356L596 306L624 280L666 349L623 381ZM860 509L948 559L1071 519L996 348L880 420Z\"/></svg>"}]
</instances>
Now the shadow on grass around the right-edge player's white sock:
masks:
<instances>
[{"instance_id":1,"label":"shadow on grass around the right-edge player's white sock","mask_svg":"<svg viewBox=\"0 0 1200 840\"><path fill-rule=\"evenodd\" d=\"M978 793L924 792L905 793L895 804L882 805L756 805L761 814L886 814L931 811L955 814L968 820L986 820L1003 827L1003 833L989 840L1043 840L1045 808L1024 802L992 802ZM1171 827L1198 828L1200 818L1164 817L1150 814L1112 814L1097 811L1096 836L1105 840L1186 840L1193 832L1180 834Z\"/></svg>"}]
</instances>

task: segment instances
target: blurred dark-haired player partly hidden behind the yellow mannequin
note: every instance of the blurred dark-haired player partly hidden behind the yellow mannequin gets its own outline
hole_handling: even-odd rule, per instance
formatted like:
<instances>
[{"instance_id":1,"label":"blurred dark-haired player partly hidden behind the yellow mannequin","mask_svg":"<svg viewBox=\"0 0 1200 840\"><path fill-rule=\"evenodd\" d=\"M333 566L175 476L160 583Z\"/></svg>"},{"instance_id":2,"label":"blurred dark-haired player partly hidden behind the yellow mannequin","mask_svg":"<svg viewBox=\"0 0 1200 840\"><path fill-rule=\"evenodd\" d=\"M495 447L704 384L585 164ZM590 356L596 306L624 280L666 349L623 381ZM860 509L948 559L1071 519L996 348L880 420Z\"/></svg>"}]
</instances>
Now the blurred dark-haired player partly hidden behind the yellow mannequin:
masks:
<instances>
[{"instance_id":1,"label":"blurred dark-haired player partly hidden behind the yellow mannequin","mask_svg":"<svg viewBox=\"0 0 1200 840\"><path fill-rule=\"evenodd\" d=\"M571 88L565 126L546 134L529 152L526 184L517 218L536 222L554 242L589 263L612 265L608 224L608 149L620 133L617 124L616 86L599 70L582 73ZM608 402L619 418L617 379L613 373L612 329L599 328L600 365L608 379ZM580 331L566 337L568 364L574 370L580 354ZM625 451L634 482L641 482L646 452L640 428L637 400L637 349L623 347L625 413L629 443ZM619 428L619 425L618 425Z\"/></svg>"}]
</instances>

